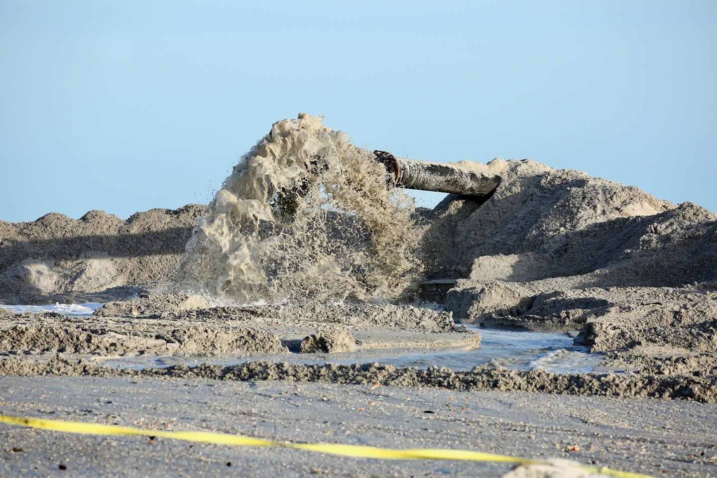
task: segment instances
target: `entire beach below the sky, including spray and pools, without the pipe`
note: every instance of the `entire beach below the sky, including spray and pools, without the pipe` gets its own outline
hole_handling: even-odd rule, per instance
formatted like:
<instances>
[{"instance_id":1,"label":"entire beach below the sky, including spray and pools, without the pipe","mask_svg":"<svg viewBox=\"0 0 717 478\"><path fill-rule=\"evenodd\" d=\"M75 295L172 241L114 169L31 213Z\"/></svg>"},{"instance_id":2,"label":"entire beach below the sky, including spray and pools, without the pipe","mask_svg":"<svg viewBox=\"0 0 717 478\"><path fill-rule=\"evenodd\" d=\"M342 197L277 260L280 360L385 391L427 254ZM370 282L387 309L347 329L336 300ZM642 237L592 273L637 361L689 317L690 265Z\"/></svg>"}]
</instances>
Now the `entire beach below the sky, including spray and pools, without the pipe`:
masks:
<instances>
[{"instance_id":1,"label":"entire beach below the sky, including spray and pools, without the pipe","mask_svg":"<svg viewBox=\"0 0 717 478\"><path fill-rule=\"evenodd\" d=\"M0 424L2 474L717 474L716 214L500 158L416 208L378 153L302 114L209 205L0 221L1 413L597 468Z\"/></svg>"}]
</instances>

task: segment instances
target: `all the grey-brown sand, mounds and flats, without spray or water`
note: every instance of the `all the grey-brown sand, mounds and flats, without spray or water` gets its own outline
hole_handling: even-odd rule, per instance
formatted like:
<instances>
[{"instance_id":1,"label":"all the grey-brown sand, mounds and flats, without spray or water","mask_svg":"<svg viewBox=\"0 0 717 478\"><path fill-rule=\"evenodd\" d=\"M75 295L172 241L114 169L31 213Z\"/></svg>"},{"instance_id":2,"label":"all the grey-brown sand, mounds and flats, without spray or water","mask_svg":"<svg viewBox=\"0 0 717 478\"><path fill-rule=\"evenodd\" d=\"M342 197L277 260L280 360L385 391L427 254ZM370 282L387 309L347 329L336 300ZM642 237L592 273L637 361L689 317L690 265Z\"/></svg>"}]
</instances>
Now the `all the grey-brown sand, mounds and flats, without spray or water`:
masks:
<instances>
[{"instance_id":1,"label":"all the grey-brown sand, mounds and flats, without spray or water","mask_svg":"<svg viewBox=\"0 0 717 478\"><path fill-rule=\"evenodd\" d=\"M410 305L239 307L168 292L203 206L127 221L91 211L77 221L47 214L0 222L0 302L108 302L92 317L0 308L2 410L717 476L717 215L528 160L460 164L502 181L488 198L450 195L414 213L415 254L431 282ZM425 307L427 298L445 312ZM605 361L584 374L292 363L315 353L480 346L480 334L461 323L576 333L577 344ZM209 363L186 365L202 361ZM62 474L59 464L73 475L123 476L501 476L509 469L10 426L0 433L9 450L0 474L8 476ZM580 451L565 451L571 446ZM564 476L556 470L510 476Z\"/></svg>"}]
</instances>

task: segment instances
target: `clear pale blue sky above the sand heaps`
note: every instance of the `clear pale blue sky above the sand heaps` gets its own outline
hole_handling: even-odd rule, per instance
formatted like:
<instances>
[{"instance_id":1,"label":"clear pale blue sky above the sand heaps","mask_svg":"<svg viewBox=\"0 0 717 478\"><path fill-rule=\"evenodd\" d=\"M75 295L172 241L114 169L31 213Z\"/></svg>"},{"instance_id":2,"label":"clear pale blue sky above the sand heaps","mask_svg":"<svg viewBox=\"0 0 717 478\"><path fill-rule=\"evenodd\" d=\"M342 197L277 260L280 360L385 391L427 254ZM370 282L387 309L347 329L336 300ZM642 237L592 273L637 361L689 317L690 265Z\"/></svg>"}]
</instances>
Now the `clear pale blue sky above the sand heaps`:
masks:
<instances>
[{"instance_id":1,"label":"clear pale blue sky above the sand heaps","mask_svg":"<svg viewBox=\"0 0 717 478\"><path fill-rule=\"evenodd\" d=\"M300 112L717 211L713 1L0 1L0 72L5 221L206 204Z\"/></svg>"}]
</instances>

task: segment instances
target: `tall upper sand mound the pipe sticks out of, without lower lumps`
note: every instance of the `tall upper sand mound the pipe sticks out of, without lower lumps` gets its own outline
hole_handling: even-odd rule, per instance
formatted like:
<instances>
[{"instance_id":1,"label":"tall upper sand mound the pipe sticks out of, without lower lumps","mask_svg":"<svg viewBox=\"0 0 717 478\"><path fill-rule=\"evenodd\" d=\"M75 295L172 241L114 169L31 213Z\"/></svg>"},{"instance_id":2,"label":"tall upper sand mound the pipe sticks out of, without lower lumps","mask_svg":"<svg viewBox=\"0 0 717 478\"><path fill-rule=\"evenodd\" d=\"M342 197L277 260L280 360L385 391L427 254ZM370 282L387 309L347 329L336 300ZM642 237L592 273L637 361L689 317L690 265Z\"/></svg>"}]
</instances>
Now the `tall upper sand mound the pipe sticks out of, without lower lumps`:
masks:
<instances>
[{"instance_id":1,"label":"tall upper sand mound the pipe sticks out of, without lower lumps","mask_svg":"<svg viewBox=\"0 0 717 478\"><path fill-rule=\"evenodd\" d=\"M448 196L433 211L424 246L429 274L483 282L560 277L570 288L717 280L717 215L706 209L529 160L486 166L503 178L493 196Z\"/></svg>"}]
</instances>

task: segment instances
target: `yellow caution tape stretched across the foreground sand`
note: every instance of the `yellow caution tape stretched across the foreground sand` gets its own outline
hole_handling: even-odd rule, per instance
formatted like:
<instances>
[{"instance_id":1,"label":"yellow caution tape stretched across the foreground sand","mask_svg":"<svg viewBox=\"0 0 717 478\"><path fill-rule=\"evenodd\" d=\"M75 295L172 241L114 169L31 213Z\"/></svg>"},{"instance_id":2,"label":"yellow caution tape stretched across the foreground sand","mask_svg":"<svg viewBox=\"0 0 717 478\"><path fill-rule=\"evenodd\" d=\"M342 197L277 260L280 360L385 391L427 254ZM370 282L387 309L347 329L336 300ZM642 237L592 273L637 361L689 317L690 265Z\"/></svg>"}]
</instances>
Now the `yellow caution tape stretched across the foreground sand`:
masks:
<instances>
[{"instance_id":1,"label":"yellow caution tape stretched across the foreground sand","mask_svg":"<svg viewBox=\"0 0 717 478\"><path fill-rule=\"evenodd\" d=\"M467 460L473 462L504 462L517 464L546 464L531 459L508 457L480 451L451 450L451 449L390 449L377 446L342 445L328 443L280 443L278 441L263 440L250 436L212 433L209 431L161 431L143 430L128 426L87 424L79 421L29 419L22 416L0 415L0 423L29 426L34 429L65 431L85 435L140 435L161 436L186 441L201 441L204 443L241 446L280 446L319 453L343 455L344 457L378 458L378 459L440 459L440 460ZM588 467L576 464L576 467L589 472L604 474L615 478L654 478L645 474L619 472L609 468Z\"/></svg>"}]
</instances>

